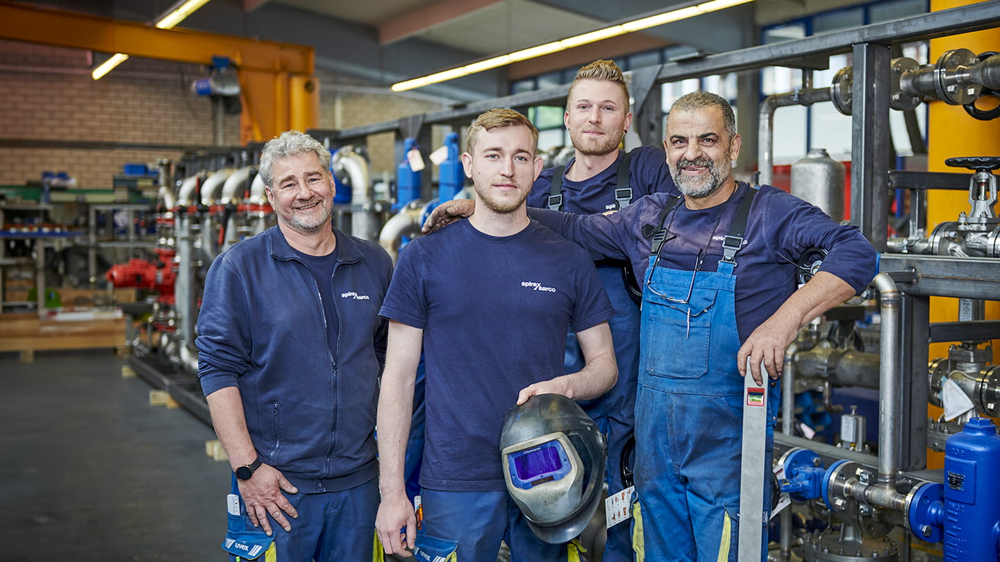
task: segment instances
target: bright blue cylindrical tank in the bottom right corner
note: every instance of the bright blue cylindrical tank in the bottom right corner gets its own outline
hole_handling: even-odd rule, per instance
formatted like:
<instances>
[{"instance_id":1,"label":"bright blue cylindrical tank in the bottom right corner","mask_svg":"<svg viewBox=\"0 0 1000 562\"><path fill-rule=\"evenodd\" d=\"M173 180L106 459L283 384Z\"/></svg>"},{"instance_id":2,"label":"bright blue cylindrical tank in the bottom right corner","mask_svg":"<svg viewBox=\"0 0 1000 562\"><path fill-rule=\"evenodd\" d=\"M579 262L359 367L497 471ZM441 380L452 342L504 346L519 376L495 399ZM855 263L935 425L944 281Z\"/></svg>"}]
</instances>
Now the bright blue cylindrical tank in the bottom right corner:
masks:
<instances>
[{"instance_id":1,"label":"bright blue cylindrical tank in the bottom right corner","mask_svg":"<svg viewBox=\"0 0 1000 562\"><path fill-rule=\"evenodd\" d=\"M944 457L945 562L997 562L1000 541L1000 435L972 418L948 438Z\"/></svg>"}]
</instances>

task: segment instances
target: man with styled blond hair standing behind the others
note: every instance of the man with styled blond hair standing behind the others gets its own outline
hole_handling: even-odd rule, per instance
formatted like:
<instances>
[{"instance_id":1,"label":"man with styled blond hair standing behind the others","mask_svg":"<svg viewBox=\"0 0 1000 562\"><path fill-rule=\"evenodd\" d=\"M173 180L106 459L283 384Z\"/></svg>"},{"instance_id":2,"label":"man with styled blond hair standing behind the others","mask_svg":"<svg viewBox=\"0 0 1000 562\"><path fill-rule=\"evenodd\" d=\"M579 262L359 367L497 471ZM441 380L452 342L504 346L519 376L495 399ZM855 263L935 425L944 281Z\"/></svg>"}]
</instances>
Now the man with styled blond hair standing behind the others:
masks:
<instances>
[{"instance_id":1,"label":"man with styled blond hair standing behind the others","mask_svg":"<svg viewBox=\"0 0 1000 562\"><path fill-rule=\"evenodd\" d=\"M629 104L628 83L613 61L597 60L577 71L563 115L574 157L566 166L541 173L528 196L529 207L589 215L620 210L650 193L679 195L662 148L641 146L629 152L621 150L622 139L632 123ZM608 463L604 474L608 492L614 494L625 488L622 455L635 426L639 305L626 285L630 278L634 279L628 262L604 259L595 265L615 307L608 325L618 362L618 382L603 396L581 406L607 436ZM566 339L566 372L579 370L581 362L580 346L571 330ZM628 522L608 529L603 560L632 560Z\"/></svg>"}]
</instances>

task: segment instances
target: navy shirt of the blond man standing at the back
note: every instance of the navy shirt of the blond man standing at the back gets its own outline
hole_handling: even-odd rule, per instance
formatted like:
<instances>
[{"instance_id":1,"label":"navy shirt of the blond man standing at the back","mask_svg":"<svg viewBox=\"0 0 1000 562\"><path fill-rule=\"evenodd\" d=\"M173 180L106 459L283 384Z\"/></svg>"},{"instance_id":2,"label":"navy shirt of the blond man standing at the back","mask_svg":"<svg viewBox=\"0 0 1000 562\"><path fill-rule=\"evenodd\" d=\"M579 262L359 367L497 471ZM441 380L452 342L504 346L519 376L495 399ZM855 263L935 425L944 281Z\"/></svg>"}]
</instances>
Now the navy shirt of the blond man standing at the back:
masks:
<instances>
[{"instance_id":1,"label":"navy shirt of the blond man standing at the back","mask_svg":"<svg viewBox=\"0 0 1000 562\"><path fill-rule=\"evenodd\" d=\"M674 187L667 167L667 155L662 148L640 146L631 152L629 161L629 185L632 188L632 201L650 193L671 193L680 195ZM618 151L614 163L583 181L571 181L563 177L563 195L561 211L589 215L603 213L618 208L615 202L615 186L618 184L618 164L624 153ZM576 161L574 158L566 165L568 172ZM529 207L549 208L549 195L552 187L554 168L549 168L538 176L528 194Z\"/></svg>"}]
</instances>

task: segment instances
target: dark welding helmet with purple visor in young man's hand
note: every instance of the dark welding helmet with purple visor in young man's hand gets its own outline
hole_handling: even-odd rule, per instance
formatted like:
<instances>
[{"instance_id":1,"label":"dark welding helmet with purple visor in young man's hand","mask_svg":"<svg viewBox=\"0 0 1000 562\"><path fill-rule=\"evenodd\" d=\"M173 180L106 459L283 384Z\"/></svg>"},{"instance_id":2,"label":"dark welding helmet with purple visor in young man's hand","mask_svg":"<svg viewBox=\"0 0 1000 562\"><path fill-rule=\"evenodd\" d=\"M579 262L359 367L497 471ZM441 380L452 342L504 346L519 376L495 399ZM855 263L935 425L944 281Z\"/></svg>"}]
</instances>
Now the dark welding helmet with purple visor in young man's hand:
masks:
<instances>
[{"instance_id":1,"label":"dark welding helmet with purple visor in young man's hand","mask_svg":"<svg viewBox=\"0 0 1000 562\"><path fill-rule=\"evenodd\" d=\"M601 502L604 435L561 394L539 394L507 412L500 457L507 491L535 535L559 544L578 536Z\"/></svg>"}]
</instances>

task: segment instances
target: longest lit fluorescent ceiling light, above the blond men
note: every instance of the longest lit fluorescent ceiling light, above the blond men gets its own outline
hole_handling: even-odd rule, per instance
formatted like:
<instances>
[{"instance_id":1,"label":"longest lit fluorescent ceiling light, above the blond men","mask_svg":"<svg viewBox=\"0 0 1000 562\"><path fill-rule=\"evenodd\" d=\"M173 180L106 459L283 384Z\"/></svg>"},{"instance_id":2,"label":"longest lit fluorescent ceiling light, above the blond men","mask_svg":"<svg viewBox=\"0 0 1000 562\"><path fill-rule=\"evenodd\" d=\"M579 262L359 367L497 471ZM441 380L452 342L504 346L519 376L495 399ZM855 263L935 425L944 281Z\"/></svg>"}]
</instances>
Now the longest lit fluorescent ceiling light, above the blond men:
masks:
<instances>
[{"instance_id":1,"label":"longest lit fluorescent ceiling light, above the blond men","mask_svg":"<svg viewBox=\"0 0 1000 562\"><path fill-rule=\"evenodd\" d=\"M732 6L746 4L747 2L753 2L753 0L712 0L710 2L702 2L700 4L688 6L686 8L678 8L676 10L671 10L669 12L664 12L662 14L656 14L653 16L648 16L637 20L632 20L625 23L604 27L595 31L582 33L580 35L574 35L573 37L567 37L566 39L561 39L559 41L544 43L536 47L529 47L527 49L522 49L520 51L515 51L513 53L509 53L506 55L500 55L498 57L481 60L478 62L467 64L465 66L460 66L458 68L452 68L449 70L428 74L427 76L421 76L419 78L413 78L411 80L404 80L403 82L397 82L396 84L392 85L392 91L403 92L405 90L412 90L414 88L422 88L429 84L446 82L448 80L453 80L461 76L468 76L469 74L475 74L477 72L482 72L484 70L492 70L494 68L499 68L501 66L508 65L512 62L532 59L535 57L540 57L542 55L549 55L552 53L558 53L559 51L564 51L566 49L570 49L573 47L579 47L580 45L586 45L588 43L594 43L611 37L617 37L619 35L631 33L633 31L649 29L650 27L656 27L658 25L663 25L665 23L670 23L673 21L687 19L694 16L700 16L702 14L715 12L717 10L722 10L724 8L730 8Z\"/></svg>"}]
</instances>

